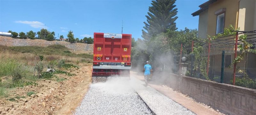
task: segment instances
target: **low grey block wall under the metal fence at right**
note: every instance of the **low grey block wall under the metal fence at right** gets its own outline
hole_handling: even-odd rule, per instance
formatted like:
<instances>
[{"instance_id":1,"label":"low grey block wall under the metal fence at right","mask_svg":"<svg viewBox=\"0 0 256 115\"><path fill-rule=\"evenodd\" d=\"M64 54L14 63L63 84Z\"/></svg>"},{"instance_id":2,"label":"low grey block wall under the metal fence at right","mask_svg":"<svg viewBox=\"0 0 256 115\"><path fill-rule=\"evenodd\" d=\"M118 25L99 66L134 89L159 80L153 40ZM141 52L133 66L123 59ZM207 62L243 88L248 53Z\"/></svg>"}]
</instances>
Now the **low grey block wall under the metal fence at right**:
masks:
<instances>
[{"instance_id":1,"label":"low grey block wall under the metal fence at right","mask_svg":"<svg viewBox=\"0 0 256 115\"><path fill-rule=\"evenodd\" d=\"M162 72L160 72L162 73ZM161 75L161 74L156 74ZM173 74L162 80L174 90L228 115L256 115L256 90Z\"/></svg>"}]
</instances>

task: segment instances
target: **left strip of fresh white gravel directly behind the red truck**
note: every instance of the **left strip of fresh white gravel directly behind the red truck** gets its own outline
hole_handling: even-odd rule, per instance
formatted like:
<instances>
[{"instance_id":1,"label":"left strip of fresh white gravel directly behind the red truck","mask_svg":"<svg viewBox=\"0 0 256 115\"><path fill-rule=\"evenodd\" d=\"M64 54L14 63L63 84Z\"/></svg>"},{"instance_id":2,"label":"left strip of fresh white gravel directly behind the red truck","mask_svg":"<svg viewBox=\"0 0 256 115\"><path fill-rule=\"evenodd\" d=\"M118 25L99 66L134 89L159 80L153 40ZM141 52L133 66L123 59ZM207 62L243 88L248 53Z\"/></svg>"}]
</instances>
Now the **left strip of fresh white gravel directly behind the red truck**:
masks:
<instances>
[{"instance_id":1,"label":"left strip of fresh white gravel directly behind the red truck","mask_svg":"<svg viewBox=\"0 0 256 115\"><path fill-rule=\"evenodd\" d=\"M90 86L76 115L152 115L152 111L126 82L114 80Z\"/></svg>"}]
</instances>

